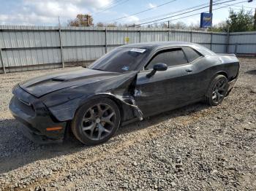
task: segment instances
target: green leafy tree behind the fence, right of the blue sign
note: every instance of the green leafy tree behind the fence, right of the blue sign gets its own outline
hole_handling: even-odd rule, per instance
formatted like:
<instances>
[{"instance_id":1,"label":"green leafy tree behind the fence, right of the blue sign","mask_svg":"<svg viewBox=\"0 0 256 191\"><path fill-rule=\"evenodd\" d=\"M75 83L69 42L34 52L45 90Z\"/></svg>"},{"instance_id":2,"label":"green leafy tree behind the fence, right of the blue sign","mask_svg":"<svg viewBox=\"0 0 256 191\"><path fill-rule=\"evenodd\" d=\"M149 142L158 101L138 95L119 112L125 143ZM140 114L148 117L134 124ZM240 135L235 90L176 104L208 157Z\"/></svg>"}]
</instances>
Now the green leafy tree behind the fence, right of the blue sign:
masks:
<instances>
[{"instance_id":1,"label":"green leafy tree behind the fence, right of the blue sign","mask_svg":"<svg viewBox=\"0 0 256 191\"><path fill-rule=\"evenodd\" d=\"M244 11L242 8L239 12L234 12L230 9L230 15L227 19L227 27L230 32L242 32L253 30L254 18L252 11Z\"/></svg>"}]
</instances>

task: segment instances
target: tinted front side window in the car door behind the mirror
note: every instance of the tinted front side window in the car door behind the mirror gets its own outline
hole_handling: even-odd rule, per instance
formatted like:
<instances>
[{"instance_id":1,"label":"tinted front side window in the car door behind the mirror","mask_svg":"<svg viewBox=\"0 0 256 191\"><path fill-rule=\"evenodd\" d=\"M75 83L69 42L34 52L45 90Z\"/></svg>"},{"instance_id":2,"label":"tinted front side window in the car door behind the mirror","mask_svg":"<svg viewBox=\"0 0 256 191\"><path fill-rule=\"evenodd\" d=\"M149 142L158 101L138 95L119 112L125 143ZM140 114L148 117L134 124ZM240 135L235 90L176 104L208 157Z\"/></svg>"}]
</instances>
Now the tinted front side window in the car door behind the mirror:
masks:
<instances>
[{"instance_id":1,"label":"tinted front side window in the car door behind the mirror","mask_svg":"<svg viewBox=\"0 0 256 191\"><path fill-rule=\"evenodd\" d=\"M157 55L155 55L154 58L152 58L148 63L146 69L153 69L153 66L156 63L165 63L169 67L178 66L188 62L181 48L176 48L158 52Z\"/></svg>"}]
</instances>

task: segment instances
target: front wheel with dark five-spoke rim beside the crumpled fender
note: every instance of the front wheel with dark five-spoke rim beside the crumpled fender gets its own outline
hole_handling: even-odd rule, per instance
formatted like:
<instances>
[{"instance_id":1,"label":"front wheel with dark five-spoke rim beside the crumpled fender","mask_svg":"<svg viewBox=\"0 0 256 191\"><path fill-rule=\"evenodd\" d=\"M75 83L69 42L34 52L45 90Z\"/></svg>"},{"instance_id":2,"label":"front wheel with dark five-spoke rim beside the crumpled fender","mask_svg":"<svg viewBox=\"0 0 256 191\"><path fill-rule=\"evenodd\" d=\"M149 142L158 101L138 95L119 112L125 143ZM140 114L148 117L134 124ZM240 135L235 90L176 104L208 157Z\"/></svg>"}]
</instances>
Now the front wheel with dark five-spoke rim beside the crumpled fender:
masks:
<instances>
[{"instance_id":1,"label":"front wheel with dark five-spoke rim beside the crumpled fender","mask_svg":"<svg viewBox=\"0 0 256 191\"><path fill-rule=\"evenodd\" d=\"M71 129L75 138L87 146L108 141L120 125L120 111L109 98L97 98L80 106Z\"/></svg>"}]
</instances>

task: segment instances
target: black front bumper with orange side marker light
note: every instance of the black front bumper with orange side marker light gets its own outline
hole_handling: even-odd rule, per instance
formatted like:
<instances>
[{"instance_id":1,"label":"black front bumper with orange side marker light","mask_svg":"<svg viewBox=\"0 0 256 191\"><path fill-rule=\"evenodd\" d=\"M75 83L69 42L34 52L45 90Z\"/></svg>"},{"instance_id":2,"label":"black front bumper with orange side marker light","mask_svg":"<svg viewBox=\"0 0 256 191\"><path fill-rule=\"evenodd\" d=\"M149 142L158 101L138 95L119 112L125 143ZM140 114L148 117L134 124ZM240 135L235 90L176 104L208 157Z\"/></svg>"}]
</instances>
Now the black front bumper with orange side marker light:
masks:
<instances>
[{"instance_id":1,"label":"black front bumper with orange side marker light","mask_svg":"<svg viewBox=\"0 0 256 191\"><path fill-rule=\"evenodd\" d=\"M23 124L20 130L26 137L39 144L64 139L67 122L55 120L39 99L19 86L15 87L13 94L9 109L13 117Z\"/></svg>"}]
</instances>

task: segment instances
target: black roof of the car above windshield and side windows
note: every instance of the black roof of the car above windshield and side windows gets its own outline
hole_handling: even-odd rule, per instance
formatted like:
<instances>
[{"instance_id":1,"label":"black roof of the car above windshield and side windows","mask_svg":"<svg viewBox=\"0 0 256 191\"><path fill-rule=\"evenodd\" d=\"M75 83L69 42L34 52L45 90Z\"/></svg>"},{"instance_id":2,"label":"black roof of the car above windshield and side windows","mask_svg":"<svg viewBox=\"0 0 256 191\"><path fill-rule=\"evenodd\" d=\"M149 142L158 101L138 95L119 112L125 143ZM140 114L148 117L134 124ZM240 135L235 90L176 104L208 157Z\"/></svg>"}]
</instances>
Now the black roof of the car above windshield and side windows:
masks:
<instances>
[{"instance_id":1,"label":"black roof of the car above windshield and side windows","mask_svg":"<svg viewBox=\"0 0 256 191\"><path fill-rule=\"evenodd\" d=\"M200 44L195 44L191 42L143 42L143 43L135 43L135 44L126 44L121 47L124 48L140 48L140 49L148 49L148 50L159 50L167 47L192 47L203 55L215 55L214 52L208 50L206 47L201 46Z\"/></svg>"}]
</instances>

